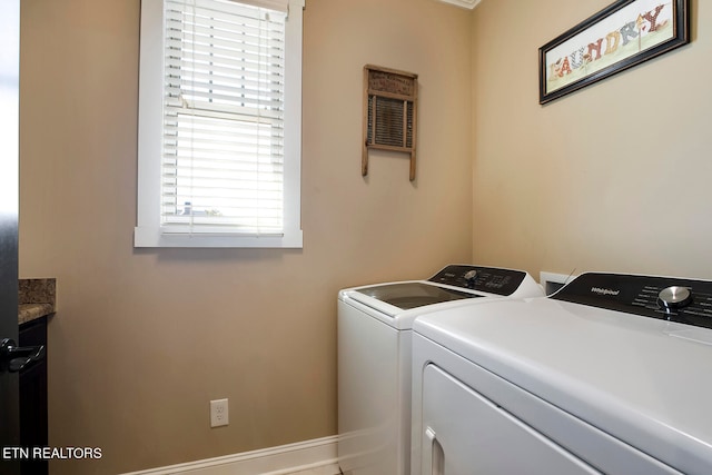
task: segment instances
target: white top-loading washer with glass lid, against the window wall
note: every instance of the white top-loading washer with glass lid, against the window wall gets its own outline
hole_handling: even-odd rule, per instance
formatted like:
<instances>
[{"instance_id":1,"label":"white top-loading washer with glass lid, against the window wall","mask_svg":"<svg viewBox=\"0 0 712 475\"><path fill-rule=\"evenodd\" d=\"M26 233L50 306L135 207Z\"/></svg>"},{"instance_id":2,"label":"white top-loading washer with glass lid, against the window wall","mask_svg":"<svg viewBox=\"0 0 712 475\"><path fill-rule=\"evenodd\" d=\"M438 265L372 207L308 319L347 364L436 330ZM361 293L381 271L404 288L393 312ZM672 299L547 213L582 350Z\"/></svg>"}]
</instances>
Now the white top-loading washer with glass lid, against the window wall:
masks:
<instances>
[{"instance_id":1,"label":"white top-loading washer with glass lid, against the window wall","mask_svg":"<svg viewBox=\"0 0 712 475\"><path fill-rule=\"evenodd\" d=\"M436 309L544 295L525 271L451 265L427 280L338 294L338 458L345 475L407 475L412 325Z\"/></svg>"}]
</instances>

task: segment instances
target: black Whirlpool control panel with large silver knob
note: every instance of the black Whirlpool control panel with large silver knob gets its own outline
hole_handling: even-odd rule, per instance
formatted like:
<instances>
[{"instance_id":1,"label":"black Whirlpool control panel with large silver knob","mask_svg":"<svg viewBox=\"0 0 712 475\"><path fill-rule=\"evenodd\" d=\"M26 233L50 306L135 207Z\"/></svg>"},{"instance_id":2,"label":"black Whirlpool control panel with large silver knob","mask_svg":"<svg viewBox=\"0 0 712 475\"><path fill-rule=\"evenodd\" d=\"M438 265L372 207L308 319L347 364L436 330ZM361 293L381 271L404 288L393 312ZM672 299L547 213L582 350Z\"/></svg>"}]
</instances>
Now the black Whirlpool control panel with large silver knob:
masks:
<instances>
[{"instance_id":1,"label":"black Whirlpool control panel with large silver knob","mask_svg":"<svg viewBox=\"0 0 712 475\"><path fill-rule=\"evenodd\" d=\"M589 273L550 298L712 328L712 281Z\"/></svg>"}]
</instances>

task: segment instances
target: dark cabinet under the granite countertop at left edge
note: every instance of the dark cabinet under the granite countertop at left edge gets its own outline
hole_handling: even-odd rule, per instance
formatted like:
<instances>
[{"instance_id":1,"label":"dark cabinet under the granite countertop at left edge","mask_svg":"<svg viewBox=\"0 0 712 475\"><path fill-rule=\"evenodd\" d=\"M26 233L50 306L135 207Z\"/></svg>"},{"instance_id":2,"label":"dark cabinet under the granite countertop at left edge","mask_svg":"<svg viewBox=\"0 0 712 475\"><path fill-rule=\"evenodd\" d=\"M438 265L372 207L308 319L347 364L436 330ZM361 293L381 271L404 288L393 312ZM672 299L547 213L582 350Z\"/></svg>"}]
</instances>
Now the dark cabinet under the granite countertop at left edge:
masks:
<instances>
[{"instance_id":1,"label":"dark cabinet under the granite countertop at left edge","mask_svg":"<svg viewBox=\"0 0 712 475\"><path fill-rule=\"evenodd\" d=\"M47 348L47 317L20 325L19 346L44 345ZM47 353L49 355L49 353ZM46 447L47 435L47 357L20 372L20 445ZM46 475L48 461L23 459L22 475Z\"/></svg>"}]
</instances>

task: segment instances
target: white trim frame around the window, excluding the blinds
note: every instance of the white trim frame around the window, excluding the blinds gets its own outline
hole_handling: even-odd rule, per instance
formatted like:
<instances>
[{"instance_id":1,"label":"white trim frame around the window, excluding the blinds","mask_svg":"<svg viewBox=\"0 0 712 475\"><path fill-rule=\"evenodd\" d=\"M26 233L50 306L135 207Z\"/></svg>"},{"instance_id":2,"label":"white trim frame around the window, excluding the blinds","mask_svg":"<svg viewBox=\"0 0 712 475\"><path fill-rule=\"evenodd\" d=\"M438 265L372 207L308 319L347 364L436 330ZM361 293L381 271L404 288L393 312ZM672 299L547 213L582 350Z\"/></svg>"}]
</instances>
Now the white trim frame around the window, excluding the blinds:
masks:
<instances>
[{"instance_id":1,"label":"white trim frame around the window, excluding the blinds","mask_svg":"<svg viewBox=\"0 0 712 475\"><path fill-rule=\"evenodd\" d=\"M301 248L301 24L305 0L289 0L285 59L284 235L165 234L160 229L164 2L141 1L138 189L135 247Z\"/></svg>"}]
</instances>

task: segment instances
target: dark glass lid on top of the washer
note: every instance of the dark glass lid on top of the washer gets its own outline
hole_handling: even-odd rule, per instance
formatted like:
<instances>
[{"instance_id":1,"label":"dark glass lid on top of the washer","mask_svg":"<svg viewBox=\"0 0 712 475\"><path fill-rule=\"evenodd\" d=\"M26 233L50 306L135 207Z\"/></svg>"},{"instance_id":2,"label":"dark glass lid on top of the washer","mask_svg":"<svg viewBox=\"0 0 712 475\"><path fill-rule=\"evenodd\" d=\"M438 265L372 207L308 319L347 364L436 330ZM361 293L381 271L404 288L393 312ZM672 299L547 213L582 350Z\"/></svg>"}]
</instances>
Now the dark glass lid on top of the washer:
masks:
<instances>
[{"instance_id":1,"label":"dark glass lid on top of the washer","mask_svg":"<svg viewBox=\"0 0 712 475\"><path fill-rule=\"evenodd\" d=\"M438 287L429 284L424 284L422 281L362 287L356 289L356 291L377 300L390 304L402 310L424 307L426 305L441 304L444 301L482 297L478 294Z\"/></svg>"}]
</instances>

